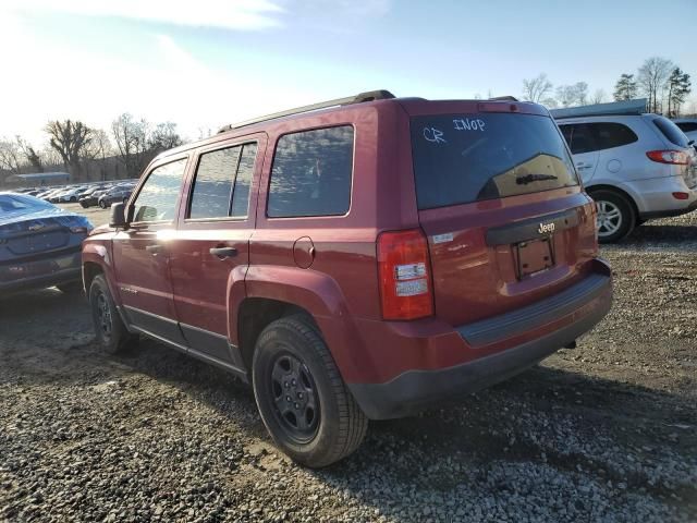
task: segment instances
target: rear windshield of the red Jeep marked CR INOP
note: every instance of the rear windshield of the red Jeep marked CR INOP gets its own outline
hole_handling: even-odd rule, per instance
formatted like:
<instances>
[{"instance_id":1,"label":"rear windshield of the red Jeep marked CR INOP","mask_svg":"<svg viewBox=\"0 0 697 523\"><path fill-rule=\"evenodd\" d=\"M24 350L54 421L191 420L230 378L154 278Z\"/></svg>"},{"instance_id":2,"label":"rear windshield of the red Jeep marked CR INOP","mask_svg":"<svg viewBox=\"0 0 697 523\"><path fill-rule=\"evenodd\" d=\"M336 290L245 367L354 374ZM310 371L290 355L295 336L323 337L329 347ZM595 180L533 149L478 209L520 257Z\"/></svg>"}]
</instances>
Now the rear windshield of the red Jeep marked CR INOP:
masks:
<instances>
[{"instance_id":1,"label":"rear windshield of the red Jeep marked CR INOP","mask_svg":"<svg viewBox=\"0 0 697 523\"><path fill-rule=\"evenodd\" d=\"M419 209L578 185L551 118L450 114L412 118Z\"/></svg>"}]
</instances>

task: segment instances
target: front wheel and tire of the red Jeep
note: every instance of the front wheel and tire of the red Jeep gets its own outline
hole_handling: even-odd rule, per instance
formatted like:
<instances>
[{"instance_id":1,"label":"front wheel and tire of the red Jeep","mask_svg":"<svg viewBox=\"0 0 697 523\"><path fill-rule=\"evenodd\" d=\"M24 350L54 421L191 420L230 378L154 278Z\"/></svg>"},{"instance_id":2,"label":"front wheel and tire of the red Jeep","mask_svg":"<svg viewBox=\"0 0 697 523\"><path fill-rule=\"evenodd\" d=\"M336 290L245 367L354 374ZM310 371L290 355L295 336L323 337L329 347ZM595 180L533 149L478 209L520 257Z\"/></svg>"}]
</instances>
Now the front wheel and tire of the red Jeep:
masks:
<instances>
[{"instance_id":1,"label":"front wheel and tire of the red Jeep","mask_svg":"<svg viewBox=\"0 0 697 523\"><path fill-rule=\"evenodd\" d=\"M99 348L107 354L124 352L136 339L126 329L117 309L103 275L95 276L89 285L89 308Z\"/></svg>"}]
</instances>

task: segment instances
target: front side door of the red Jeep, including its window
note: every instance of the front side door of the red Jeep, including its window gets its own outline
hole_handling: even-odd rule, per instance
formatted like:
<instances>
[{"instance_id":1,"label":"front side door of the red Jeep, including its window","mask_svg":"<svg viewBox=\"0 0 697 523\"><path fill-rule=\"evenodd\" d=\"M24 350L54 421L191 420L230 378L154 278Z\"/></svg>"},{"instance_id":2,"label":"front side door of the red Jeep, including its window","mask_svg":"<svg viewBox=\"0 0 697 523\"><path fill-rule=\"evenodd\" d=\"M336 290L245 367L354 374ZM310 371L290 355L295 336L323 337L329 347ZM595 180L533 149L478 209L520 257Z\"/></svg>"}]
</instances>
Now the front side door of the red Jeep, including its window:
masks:
<instances>
[{"instance_id":1,"label":"front side door of the red Jeep, including its window","mask_svg":"<svg viewBox=\"0 0 697 523\"><path fill-rule=\"evenodd\" d=\"M145 333L185 345L172 301L169 239L187 156L167 158L147 173L129 204L130 227L113 239L118 292L129 323Z\"/></svg>"}]
</instances>

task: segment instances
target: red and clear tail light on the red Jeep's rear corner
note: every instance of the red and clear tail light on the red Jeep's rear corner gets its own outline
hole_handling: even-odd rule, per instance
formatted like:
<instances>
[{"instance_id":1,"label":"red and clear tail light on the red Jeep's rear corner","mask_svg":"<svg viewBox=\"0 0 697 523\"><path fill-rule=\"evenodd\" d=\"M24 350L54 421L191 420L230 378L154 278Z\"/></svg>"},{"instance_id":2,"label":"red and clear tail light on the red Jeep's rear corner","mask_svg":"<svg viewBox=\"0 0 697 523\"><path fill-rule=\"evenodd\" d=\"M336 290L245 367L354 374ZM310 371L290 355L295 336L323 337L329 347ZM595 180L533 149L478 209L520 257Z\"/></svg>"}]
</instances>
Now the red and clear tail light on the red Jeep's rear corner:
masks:
<instances>
[{"instance_id":1,"label":"red and clear tail light on the red Jeep's rear corner","mask_svg":"<svg viewBox=\"0 0 697 523\"><path fill-rule=\"evenodd\" d=\"M378 269L384 319L433 314L428 243L419 229L380 234Z\"/></svg>"}]
</instances>

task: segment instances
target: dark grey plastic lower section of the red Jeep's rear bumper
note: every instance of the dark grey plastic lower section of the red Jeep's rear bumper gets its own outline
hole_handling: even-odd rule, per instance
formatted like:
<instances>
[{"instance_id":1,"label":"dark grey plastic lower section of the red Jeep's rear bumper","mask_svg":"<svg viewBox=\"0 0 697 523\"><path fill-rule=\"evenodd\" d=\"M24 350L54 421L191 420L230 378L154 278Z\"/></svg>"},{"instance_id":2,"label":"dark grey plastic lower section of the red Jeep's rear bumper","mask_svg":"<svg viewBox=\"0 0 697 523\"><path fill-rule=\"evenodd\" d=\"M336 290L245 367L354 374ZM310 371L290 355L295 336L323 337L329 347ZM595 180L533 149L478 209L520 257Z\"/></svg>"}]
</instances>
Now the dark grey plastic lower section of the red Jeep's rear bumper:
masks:
<instances>
[{"instance_id":1,"label":"dark grey plastic lower section of the red Jeep's rear bumper","mask_svg":"<svg viewBox=\"0 0 697 523\"><path fill-rule=\"evenodd\" d=\"M606 276L602 291L611 293L611 278ZM595 294L594 297L598 295ZM576 303L577 308L590 303L594 297ZM515 376L590 330L608 314L611 305L610 294L588 314L564 328L462 365L436 370L408 370L384 384L347 386L364 413L371 419L414 414L444 399L456 399Z\"/></svg>"}]
</instances>

